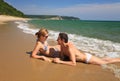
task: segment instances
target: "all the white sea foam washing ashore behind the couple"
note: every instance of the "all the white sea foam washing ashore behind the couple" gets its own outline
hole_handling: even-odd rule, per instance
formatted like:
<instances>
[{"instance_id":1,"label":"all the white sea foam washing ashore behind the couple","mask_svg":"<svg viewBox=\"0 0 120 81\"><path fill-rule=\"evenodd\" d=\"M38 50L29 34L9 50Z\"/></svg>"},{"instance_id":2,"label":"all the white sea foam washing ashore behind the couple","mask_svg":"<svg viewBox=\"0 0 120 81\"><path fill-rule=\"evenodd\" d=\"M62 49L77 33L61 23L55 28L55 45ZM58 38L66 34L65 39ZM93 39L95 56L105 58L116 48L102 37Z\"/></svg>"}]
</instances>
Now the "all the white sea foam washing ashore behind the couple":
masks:
<instances>
[{"instance_id":1,"label":"all the white sea foam washing ashore behind the couple","mask_svg":"<svg viewBox=\"0 0 120 81\"><path fill-rule=\"evenodd\" d=\"M27 22L15 22L18 28L22 29L24 33L34 35L39 29L30 28ZM49 38L57 40L59 31L49 30ZM78 49L89 52L98 57L120 57L120 43L115 43L109 40L100 40L95 38L83 37L76 34L68 34L70 41L72 41ZM117 78L120 78L120 69L116 65L104 65L103 68L110 69Z\"/></svg>"}]
</instances>

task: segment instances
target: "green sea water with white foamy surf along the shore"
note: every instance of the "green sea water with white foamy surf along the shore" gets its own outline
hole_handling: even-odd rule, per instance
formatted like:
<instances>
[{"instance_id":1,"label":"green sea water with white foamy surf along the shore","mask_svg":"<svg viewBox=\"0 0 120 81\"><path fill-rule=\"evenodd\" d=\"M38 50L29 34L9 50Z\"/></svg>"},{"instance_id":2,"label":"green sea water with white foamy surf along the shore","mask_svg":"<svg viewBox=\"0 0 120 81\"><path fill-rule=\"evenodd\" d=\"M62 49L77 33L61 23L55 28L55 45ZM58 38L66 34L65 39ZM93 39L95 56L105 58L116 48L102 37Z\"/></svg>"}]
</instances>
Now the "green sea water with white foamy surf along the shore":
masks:
<instances>
[{"instance_id":1,"label":"green sea water with white foamy surf along the shore","mask_svg":"<svg viewBox=\"0 0 120 81\"><path fill-rule=\"evenodd\" d=\"M65 32L69 36L69 41L82 51L98 57L120 58L120 21L34 19L15 23L24 33L33 35L40 28L47 28L49 31L48 40L57 40L58 34ZM111 66L103 67L110 69ZM120 72L115 71L120 70L114 69L115 75L119 76Z\"/></svg>"}]
</instances>

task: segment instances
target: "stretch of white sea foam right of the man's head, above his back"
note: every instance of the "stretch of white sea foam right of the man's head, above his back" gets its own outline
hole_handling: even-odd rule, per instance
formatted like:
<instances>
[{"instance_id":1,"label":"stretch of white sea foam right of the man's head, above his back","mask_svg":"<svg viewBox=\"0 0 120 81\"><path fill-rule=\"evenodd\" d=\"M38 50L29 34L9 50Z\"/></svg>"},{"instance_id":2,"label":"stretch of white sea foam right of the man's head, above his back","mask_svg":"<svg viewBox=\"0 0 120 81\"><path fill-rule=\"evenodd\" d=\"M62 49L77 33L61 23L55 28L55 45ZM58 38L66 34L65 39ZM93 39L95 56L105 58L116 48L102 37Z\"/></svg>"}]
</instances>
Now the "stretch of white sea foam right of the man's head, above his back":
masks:
<instances>
[{"instance_id":1,"label":"stretch of white sea foam right of the man's head, above his back","mask_svg":"<svg viewBox=\"0 0 120 81\"><path fill-rule=\"evenodd\" d=\"M83 37L74 34L69 34L69 38L79 49L92 53L96 56L107 56L113 58L120 57L120 43Z\"/></svg>"}]
</instances>

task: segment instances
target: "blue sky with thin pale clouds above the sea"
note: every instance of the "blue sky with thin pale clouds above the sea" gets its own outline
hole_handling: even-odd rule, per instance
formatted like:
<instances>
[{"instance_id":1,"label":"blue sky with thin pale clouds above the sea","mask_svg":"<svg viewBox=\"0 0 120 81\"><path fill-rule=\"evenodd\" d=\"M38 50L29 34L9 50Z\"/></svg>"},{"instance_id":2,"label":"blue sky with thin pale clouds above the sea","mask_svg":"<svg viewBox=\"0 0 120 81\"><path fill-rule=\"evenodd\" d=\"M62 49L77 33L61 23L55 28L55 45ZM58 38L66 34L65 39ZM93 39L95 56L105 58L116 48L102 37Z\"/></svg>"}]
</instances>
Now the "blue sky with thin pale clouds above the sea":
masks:
<instances>
[{"instance_id":1,"label":"blue sky with thin pale clouds above the sea","mask_svg":"<svg viewBox=\"0 0 120 81\"><path fill-rule=\"evenodd\" d=\"M120 21L120 0L4 0L29 15L74 16Z\"/></svg>"}]
</instances>

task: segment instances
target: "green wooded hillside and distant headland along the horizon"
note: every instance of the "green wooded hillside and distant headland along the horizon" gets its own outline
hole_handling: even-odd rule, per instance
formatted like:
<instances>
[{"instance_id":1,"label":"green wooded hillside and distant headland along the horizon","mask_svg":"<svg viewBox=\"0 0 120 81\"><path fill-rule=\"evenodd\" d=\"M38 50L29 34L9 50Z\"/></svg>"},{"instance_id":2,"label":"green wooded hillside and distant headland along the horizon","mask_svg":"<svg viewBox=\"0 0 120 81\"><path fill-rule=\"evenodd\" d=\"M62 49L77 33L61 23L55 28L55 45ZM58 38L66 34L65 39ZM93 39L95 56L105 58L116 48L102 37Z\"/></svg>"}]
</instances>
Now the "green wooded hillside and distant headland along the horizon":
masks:
<instances>
[{"instance_id":1,"label":"green wooded hillside and distant headland along the horizon","mask_svg":"<svg viewBox=\"0 0 120 81\"><path fill-rule=\"evenodd\" d=\"M37 18L44 20L80 20L73 16L59 16L59 15L25 15L20 10L14 8L12 5L8 4L4 0L0 0L0 15L9 15L24 18Z\"/></svg>"}]
</instances>

